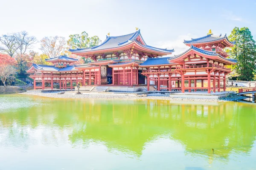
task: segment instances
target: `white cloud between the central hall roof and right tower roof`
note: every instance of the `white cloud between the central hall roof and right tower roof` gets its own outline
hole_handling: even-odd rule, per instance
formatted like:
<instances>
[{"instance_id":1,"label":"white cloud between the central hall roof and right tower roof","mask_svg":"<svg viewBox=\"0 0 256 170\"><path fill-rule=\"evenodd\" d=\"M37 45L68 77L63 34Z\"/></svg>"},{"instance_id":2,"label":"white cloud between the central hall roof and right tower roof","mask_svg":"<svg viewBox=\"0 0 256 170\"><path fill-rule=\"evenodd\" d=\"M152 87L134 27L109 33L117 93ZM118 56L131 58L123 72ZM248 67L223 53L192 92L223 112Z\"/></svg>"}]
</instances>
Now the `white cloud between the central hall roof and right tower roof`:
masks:
<instances>
[{"instance_id":1,"label":"white cloud between the central hall roof and right tower roof","mask_svg":"<svg viewBox=\"0 0 256 170\"><path fill-rule=\"evenodd\" d=\"M171 56L181 54L189 49L189 46L185 45L184 40L191 40L191 38L197 38L198 36L190 33L186 35L180 35L175 40L157 42L154 46L159 48L173 49L174 51Z\"/></svg>"}]
</instances>

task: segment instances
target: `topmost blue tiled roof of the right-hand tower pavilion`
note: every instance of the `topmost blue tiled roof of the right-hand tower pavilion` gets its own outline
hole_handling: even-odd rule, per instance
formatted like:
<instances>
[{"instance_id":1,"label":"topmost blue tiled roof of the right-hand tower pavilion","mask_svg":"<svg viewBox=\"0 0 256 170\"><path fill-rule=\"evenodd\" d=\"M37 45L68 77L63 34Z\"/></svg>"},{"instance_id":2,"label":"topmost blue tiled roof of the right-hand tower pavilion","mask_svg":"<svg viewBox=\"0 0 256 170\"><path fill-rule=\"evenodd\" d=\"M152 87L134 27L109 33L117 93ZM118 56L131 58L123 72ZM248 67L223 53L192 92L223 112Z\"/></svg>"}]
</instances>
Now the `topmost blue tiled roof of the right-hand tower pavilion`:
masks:
<instances>
[{"instance_id":1,"label":"topmost blue tiled roof of the right-hand tower pavilion","mask_svg":"<svg viewBox=\"0 0 256 170\"><path fill-rule=\"evenodd\" d=\"M216 41L216 40L223 40L223 39L227 39L227 36L214 36L212 34L209 34L207 36L204 37L200 37L200 38L192 38L191 40L184 40L185 44L196 44L196 43L203 43L203 42L212 42L212 41ZM229 41L227 39L227 41ZM229 41L231 44L235 44L235 42L231 42Z\"/></svg>"}]
</instances>

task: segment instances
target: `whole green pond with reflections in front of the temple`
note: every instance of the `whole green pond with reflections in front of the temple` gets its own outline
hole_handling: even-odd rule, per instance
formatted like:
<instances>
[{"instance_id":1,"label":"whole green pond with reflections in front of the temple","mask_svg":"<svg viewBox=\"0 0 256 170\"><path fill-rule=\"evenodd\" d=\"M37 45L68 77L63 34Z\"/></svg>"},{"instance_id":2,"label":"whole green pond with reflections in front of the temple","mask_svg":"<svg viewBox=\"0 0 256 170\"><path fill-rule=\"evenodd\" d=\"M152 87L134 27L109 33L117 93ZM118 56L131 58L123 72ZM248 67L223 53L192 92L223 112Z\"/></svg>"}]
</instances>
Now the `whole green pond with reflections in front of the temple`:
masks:
<instances>
[{"instance_id":1,"label":"whole green pond with reflections in front of the temple","mask_svg":"<svg viewBox=\"0 0 256 170\"><path fill-rule=\"evenodd\" d=\"M252 103L0 95L0 170L256 170L255 141Z\"/></svg>"}]
</instances>

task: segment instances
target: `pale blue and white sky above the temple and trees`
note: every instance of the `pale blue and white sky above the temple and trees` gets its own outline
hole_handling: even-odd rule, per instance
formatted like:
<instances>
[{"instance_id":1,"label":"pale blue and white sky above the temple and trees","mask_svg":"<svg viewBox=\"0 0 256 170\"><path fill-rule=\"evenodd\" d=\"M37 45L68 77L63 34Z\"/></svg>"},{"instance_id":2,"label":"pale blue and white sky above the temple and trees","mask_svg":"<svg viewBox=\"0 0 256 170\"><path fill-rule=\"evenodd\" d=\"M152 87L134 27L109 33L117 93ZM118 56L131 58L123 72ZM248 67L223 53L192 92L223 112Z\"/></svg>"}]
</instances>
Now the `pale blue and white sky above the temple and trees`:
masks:
<instances>
[{"instance_id":1,"label":"pale blue and white sky above the temple and trees","mask_svg":"<svg viewBox=\"0 0 256 170\"><path fill-rule=\"evenodd\" d=\"M256 40L256 0L1 0L0 35L27 31L38 41L86 31L102 42L110 32L119 36L140 32L147 45L173 49L188 47L183 40L229 35L234 27L248 27ZM33 50L41 53L40 43Z\"/></svg>"}]
</instances>

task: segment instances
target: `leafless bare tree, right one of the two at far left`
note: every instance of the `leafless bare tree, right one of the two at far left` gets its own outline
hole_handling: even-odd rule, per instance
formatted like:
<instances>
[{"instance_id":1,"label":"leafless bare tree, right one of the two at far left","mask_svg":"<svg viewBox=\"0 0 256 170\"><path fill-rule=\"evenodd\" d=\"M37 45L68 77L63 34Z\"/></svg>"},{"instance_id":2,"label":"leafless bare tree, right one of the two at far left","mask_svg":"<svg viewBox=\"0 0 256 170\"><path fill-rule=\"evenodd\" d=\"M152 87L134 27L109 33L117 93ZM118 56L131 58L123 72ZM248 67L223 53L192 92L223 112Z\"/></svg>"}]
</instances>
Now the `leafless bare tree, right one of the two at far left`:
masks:
<instances>
[{"instance_id":1,"label":"leafless bare tree, right one of the two at far left","mask_svg":"<svg viewBox=\"0 0 256 170\"><path fill-rule=\"evenodd\" d=\"M34 36L29 36L26 31L15 33L13 34L13 37L15 38L18 46L17 54L20 56L24 55L33 44L37 43L36 38Z\"/></svg>"}]
</instances>

